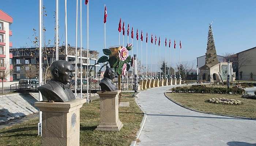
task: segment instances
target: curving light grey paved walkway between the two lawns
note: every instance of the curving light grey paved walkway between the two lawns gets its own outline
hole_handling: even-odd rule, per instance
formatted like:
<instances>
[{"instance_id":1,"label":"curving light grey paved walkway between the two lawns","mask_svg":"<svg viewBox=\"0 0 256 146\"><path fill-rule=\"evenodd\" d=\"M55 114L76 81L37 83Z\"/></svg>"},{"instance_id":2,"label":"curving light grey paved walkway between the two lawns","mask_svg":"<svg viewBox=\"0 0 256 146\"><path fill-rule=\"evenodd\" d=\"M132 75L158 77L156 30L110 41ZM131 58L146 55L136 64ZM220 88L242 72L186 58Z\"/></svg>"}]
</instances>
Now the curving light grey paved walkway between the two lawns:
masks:
<instances>
[{"instance_id":1,"label":"curving light grey paved walkway between the two lawns","mask_svg":"<svg viewBox=\"0 0 256 146\"><path fill-rule=\"evenodd\" d=\"M187 110L163 94L172 87L139 94L147 120L138 146L256 146L256 120Z\"/></svg>"}]
</instances>

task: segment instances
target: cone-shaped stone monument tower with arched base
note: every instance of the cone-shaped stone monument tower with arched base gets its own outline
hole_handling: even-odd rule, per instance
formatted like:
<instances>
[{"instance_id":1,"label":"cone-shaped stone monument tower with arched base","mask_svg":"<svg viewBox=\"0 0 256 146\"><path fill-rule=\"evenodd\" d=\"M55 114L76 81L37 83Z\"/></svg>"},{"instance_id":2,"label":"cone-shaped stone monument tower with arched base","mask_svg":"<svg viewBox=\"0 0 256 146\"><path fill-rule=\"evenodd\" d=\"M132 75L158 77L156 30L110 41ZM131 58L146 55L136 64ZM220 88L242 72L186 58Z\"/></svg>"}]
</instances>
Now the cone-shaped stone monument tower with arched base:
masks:
<instances>
[{"instance_id":1,"label":"cone-shaped stone monument tower with arched base","mask_svg":"<svg viewBox=\"0 0 256 146\"><path fill-rule=\"evenodd\" d=\"M212 23L209 24L206 48L205 65L200 67L199 80L209 82L223 82L227 80L228 64L219 62L212 33ZM232 63L230 63L230 74L232 74Z\"/></svg>"}]
</instances>

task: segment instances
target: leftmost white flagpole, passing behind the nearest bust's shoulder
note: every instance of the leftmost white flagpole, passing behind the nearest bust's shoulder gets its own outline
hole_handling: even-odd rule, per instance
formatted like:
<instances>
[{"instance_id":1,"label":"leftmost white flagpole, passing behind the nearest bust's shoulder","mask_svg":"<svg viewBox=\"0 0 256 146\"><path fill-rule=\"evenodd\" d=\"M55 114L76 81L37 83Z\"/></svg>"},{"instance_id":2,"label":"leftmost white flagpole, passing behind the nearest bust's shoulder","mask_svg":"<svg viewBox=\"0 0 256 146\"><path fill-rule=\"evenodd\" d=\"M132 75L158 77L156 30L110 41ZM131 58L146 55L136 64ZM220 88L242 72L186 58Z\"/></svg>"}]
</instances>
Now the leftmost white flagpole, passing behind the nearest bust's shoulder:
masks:
<instances>
[{"instance_id":1,"label":"leftmost white flagpole, passing behind the nearest bust's shoulder","mask_svg":"<svg viewBox=\"0 0 256 146\"><path fill-rule=\"evenodd\" d=\"M39 86L42 85L42 0L39 0ZM39 93L39 101L42 101L42 94ZM42 136L42 112L39 111L38 135Z\"/></svg>"}]
</instances>

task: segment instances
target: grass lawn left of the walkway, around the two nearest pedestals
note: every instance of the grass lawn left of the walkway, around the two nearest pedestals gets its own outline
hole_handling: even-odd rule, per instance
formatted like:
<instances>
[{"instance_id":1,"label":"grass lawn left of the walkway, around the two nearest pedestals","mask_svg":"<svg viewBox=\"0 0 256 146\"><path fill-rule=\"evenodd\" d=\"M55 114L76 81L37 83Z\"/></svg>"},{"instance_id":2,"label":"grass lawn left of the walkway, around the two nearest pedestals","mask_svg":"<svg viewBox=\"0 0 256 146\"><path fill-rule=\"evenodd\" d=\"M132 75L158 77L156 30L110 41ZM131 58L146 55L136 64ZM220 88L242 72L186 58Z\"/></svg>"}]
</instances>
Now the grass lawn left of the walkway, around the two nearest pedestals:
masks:
<instances>
[{"instance_id":1,"label":"grass lawn left of the walkway, around the two nearest pedestals","mask_svg":"<svg viewBox=\"0 0 256 146\"><path fill-rule=\"evenodd\" d=\"M100 121L99 100L84 104L80 109L81 146L129 146L136 139L143 113L135 103L132 93L122 93L121 102L130 107L119 107L119 119L124 126L119 131L95 131ZM0 129L0 146L41 146L37 136L38 118Z\"/></svg>"}]
</instances>

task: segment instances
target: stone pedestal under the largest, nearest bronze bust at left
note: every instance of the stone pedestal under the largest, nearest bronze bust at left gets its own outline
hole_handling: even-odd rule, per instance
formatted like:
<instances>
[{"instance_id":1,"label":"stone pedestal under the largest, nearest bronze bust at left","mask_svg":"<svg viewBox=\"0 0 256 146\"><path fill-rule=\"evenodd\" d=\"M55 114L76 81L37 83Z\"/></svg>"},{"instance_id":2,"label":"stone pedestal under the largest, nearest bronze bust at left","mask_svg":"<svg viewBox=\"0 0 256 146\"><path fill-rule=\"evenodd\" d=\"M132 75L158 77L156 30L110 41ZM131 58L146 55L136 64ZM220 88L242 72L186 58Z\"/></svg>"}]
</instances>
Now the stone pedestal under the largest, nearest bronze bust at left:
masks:
<instances>
[{"instance_id":1,"label":"stone pedestal under the largest, nearest bronze bust at left","mask_svg":"<svg viewBox=\"0 0 256 146\"><path fill-rule=\"evenodd\" d=\"M85 102L35 102L42 111L42 146L79 146L80 108Z\"/></svg>"}]
</instances>

